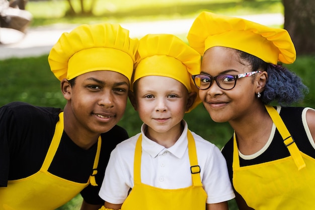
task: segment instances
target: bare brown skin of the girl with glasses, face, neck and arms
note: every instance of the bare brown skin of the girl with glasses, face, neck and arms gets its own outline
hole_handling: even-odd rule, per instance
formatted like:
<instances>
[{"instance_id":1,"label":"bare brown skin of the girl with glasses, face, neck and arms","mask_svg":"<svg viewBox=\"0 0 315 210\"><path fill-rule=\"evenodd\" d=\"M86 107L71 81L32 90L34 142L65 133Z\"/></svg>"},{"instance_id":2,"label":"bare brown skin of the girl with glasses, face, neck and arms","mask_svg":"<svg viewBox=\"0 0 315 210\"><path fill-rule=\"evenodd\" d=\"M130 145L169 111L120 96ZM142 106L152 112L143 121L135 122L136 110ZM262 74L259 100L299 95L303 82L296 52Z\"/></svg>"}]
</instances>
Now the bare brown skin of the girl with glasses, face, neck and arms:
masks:
<instances>
[{"instance_id":1,"label":"bare brown skin of the girl with glasses, face, neck and arms","mask_svg":"<svg viewBox=\"0 0 315 210\"><path fill-rule=\"evenodd\" d=\"M263 70L260 69L260 71ZM234 49L212 47L203 56L202 74L217 76L219 74L238 75L246 72L252 72L251 66L241 60ZM264 91L267 79L268 74L263 71L249 78L237 80L232 90L222 90L214 82L209 89L199 91L199 96L211 118L216 122L227 121L234 129L239 150L244 155L252 155L261 150L271 132L273 121L264 104L257 98L257 93ZM306 120L315 140L314 110L307 111ZM237 192L235 192L235 200L240 210L253 209Z\"/></svg>"}]
</instances>

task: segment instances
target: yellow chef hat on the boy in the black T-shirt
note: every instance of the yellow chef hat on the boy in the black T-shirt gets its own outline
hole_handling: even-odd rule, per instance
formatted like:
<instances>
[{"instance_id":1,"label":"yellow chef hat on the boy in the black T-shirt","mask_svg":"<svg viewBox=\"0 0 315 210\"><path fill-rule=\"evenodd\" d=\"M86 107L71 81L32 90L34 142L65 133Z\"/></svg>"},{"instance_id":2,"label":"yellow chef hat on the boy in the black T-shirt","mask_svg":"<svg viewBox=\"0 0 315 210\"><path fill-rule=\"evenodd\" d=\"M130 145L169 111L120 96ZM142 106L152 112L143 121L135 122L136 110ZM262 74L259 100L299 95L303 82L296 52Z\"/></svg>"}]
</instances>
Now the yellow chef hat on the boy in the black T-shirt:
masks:
<instances>
[{"instance_id":1,"label":"yellow chef hat on the boy in the black T-shirt","mask_svg":"<svg viewBox=\"0 0 315 210\"><path fill-rule=\"evenodd\" d=\"M118 24L81 25L63 33L48 62L58 80L71 80L93 71L114 71L132 77L137 39Z\"/></svg>"}]
</instances>

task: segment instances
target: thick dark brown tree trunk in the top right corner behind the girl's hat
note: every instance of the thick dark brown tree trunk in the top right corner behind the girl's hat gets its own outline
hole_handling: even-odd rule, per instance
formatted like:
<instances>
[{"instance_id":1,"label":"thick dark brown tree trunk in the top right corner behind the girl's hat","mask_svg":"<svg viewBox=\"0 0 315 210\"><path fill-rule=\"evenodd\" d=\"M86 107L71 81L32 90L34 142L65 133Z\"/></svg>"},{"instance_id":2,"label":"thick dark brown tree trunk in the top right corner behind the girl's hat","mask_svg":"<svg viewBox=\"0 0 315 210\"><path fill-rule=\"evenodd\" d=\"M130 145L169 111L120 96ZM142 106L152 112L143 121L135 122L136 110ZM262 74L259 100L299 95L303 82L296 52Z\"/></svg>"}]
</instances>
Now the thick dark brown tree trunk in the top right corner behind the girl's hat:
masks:
<instances>
[{"instance_id":1,"label":"thick dark brown tree trunk in the top right corner behind the girl's hat","mask_svg":"<svg viewBox=\"0 0 315 210\"><path fill-rule=\"evenodd\" d=\"M282 0L284 29L294 43L297 55L315 54L315 0Z\"/></svg>"}]
</instances>

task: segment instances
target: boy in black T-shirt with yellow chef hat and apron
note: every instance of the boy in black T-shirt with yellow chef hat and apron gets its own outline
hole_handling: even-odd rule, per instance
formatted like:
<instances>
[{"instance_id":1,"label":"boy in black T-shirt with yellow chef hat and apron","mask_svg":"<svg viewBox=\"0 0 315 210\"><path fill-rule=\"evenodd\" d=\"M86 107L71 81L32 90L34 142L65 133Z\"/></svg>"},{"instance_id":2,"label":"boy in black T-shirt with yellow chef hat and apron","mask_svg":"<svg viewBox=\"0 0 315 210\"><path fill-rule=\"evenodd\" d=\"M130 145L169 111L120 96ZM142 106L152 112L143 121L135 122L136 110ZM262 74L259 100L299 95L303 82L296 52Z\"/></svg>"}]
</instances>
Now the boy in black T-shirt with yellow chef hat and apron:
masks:
<instances>
[{"instance_id":1,"label":"boy in black T-shirt with yellow chef hat and apron","mask_svg":"<svg viewBox=\"0 0 315 210\"><path fill-rule=\"evenodd\" d=\"M138 40L119 25L82 25L50 51L64 110L14 102L0 109L0 209L56 209L82 194L98 209L110 152L128 138L117 126ZM93 186L92 186L93 185Z\"/></svg>"}]
</instances>

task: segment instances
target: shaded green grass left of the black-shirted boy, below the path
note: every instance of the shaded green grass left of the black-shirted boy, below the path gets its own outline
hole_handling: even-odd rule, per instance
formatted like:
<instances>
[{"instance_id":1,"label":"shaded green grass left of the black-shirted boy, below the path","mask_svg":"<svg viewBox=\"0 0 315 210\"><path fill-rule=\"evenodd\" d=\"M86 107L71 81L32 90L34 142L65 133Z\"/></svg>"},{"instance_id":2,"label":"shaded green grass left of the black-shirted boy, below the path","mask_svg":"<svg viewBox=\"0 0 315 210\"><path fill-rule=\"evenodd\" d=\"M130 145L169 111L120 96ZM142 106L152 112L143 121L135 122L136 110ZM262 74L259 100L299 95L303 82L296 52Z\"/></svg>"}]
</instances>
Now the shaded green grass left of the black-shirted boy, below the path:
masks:
<instances>
[{"instance_id":1,"label":"shaded green grass left of the black-shirted boy, below the path","mask_svg":"<svg viewBox=\"0 0 315 210\"><path fill-rule=\"evenodd\" d=\"M16 100L40 106L64 104L59 81L53 77L49 69L47 55L2 60L0 104Z\"/></svg>"}]
</instances>

